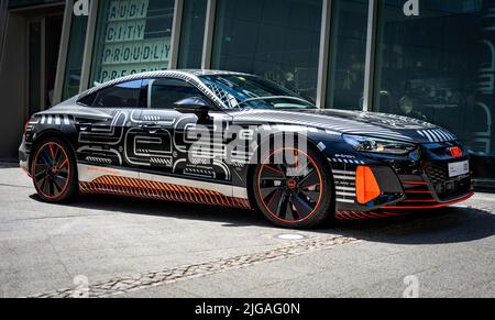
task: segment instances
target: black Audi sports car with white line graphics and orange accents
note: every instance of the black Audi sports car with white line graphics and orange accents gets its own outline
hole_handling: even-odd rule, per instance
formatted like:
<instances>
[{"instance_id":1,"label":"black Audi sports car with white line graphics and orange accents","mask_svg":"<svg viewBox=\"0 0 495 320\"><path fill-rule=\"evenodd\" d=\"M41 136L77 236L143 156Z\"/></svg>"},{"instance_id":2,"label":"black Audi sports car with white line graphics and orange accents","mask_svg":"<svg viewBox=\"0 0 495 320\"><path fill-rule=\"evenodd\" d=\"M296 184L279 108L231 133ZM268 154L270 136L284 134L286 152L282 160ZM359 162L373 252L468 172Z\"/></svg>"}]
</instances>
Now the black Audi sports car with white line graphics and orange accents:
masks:
<instances>
[{"instance_id":1,"label":"black Audi sports car with white line graphics and orange accents","mask_svg":"<svg viewBox=\"0 0 495 320\"><path fill-rule=\"evenodd\" d=\"M473 195L468 151L447 130L319 110L272 81L228 71L99 85L34 114L19 155L46 201L97 192L221 205L294 228Z\"/></svg>"}]
</instances>

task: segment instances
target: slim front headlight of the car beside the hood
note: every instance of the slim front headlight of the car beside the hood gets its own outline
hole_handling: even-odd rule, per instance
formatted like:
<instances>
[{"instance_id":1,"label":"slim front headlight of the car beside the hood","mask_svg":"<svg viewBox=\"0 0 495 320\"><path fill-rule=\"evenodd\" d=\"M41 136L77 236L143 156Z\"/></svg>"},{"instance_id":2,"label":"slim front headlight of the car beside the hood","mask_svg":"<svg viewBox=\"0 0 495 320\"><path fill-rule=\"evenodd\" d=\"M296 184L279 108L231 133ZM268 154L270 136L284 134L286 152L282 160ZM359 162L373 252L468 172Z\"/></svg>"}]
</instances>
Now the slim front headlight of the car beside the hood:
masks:
<instances>
[{"instance_id":1,"label":"slim front headlight of the car beside the hood","mask_svg":"<svg viewBox=\"0 0 495 320\"><path fill-rule=\"evenodd\" d=\"M402 141L361 135L342 135L343 140L359 152L405 155L416 148L416 145Z\"/></svg>"}]
</instances>

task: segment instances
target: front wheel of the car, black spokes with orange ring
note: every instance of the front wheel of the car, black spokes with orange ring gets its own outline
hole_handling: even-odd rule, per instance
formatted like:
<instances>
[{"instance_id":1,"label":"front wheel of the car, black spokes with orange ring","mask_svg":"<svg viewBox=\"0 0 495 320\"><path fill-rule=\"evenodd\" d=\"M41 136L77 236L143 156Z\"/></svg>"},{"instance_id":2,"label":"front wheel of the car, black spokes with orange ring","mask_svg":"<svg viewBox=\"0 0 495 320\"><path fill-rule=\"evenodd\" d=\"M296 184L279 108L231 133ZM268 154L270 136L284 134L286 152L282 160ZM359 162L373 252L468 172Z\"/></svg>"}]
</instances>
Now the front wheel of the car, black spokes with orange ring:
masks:
<instances>
[{"instance_id":1,"label":"front wheel of the car, black spokes with orange ring","mask_svg":"<svg viewBox=\"0 0 495 320\"><path fill-rule=\"evenodd\" d=\"M276 164L280 163L275 161L280 154L283 164ZM252 195L271 222L284 228L308 229L334 219L333 179L318 151L310 145L307 151L284 147L261 159L254 170Z\"/></svg>"}]
</instances>

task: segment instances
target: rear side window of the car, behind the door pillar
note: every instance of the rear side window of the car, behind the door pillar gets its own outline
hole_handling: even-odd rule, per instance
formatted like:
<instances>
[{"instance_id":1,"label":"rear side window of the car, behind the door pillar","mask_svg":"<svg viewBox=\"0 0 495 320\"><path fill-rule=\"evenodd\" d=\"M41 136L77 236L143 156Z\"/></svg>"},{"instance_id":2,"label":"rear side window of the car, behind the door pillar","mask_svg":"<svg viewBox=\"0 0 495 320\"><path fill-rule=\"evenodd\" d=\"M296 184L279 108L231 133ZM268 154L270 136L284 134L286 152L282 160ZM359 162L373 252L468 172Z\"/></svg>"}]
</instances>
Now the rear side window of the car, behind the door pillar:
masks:
<instances>
[{"instance_id":1,"label":"rear side window of the car, behind the door pillar","mask_svg":"<svg viewBox=\"0 0 495 320\"><path fill-rule=\"evenodd\" d=\"M143 80L134 80L105 88L96 96L92 107L138 108L142 82Z\"/></svg>"}]
</instances>

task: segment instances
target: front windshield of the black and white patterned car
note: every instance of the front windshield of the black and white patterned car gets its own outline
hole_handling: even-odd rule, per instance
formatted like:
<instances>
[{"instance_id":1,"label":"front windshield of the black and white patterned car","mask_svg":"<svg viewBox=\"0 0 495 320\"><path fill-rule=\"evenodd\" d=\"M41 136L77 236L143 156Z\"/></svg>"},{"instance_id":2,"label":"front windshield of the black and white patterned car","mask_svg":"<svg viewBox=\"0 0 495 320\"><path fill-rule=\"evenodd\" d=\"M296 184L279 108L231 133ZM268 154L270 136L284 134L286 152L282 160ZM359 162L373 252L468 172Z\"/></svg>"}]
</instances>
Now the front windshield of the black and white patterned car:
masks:
<instances>
[{"instance_id":1,"label":"front windshield of the black and white patterned car","mask_svg":"<svg viewBox=\"0 0 495 320\"><path fill-rule=\"evenodd\" d=\"M205 75L200 80L230 109L315 109L315 104L261 77Z\"/></svg>"}]
</instances>

